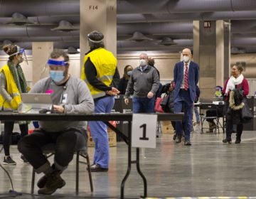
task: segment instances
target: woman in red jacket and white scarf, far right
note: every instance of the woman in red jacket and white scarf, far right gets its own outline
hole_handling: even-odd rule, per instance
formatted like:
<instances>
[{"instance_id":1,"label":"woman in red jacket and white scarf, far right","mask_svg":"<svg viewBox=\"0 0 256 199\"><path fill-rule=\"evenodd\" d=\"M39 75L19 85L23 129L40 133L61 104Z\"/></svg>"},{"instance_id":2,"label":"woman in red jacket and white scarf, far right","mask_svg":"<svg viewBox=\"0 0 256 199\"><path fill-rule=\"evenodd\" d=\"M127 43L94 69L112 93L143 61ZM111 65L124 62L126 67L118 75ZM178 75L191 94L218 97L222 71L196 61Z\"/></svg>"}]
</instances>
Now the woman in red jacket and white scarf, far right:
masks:
<instances>
[{"instance_id":1,"label":"woman in red jacket and white scarf, far right","mask_svg":"<svg viewBox=\"0 0 256 199\"><path fill-rule=\"evenodd\" d=\"M234 65L231 69L231 77L225 81L223 87L223 94L225 96L225 117L226 117L226 138L223 139L223 143L231 144L231 134L233 131L233 124L236 124L236 139L235 144L241 142L242 135L242 122L241 111L231 110L230 105L233 103L233 91L234 89L242 90L243 97L246 97L249 93L249 85L245 77L242 75L242 66ZM231 93L230 93L231 92ZM230 95L232 94L232 95ZM230 103L231 102L231 103Z\"/></svg>"}]
</instances>

